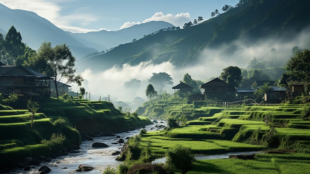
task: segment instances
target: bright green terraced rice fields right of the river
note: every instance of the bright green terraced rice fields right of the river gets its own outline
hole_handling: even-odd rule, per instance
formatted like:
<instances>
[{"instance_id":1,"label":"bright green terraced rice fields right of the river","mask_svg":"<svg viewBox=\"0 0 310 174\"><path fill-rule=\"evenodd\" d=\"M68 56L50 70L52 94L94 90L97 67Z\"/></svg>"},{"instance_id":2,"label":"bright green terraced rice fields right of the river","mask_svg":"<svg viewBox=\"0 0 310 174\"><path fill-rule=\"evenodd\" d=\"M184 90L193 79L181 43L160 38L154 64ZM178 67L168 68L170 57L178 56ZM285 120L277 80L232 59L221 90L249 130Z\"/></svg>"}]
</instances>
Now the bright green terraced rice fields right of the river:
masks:
<instances>
[{"instance_id":1,"label":"bright green terraced rice fields right of the river","mask_svg":"<svg viewBox=\"0 0 310 174\"><path fill-rule=\"evenodd\" d=\"M155 104L154 108L158 106ZM212 109L219 111L218 107L195 109L191 105L179 104L166 106L162 113L167 114L167 118L176 118L184 113L190 118L195 111L207 115ZM146 109L148 110L152 109ZM153 156L149 158L152 160L164 156L167 149L180 144L190 147L193 153L197 154L270 149L270 146L276 144L273 148L296 152L259 154L255 160L199 160L194 163L189 174L304 173L310 168L310 118L301 119L303 110L304 105L220 108L220 111L213 115L189 121L189 125L185 127L141 134L140 145L151 149ZM174 115L173 112L178 114ZM268 144L266 135L270 127L265 124L264 119L270 113L270 125L276 130L276 141ZM153 113L153 116L155 115ZM144 157L142 159L147 161Z\"/></svg>"}]
</instances>

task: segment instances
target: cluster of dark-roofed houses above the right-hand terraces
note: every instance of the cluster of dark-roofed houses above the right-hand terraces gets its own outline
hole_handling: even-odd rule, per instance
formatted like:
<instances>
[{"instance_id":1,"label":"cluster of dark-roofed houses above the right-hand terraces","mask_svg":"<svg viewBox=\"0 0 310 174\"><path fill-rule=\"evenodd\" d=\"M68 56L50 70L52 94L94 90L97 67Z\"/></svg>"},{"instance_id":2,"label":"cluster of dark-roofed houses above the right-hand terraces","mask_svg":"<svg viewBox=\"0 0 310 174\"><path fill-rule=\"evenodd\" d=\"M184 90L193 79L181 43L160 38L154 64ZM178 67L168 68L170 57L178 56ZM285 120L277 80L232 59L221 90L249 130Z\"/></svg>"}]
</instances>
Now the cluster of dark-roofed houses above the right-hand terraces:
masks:
<instances>
[{"instance_id":1,"label":"cluster of dark-roofed houses above the right-hand terraces","mask_svg":"<svg viewBox=\"0 0 310 174\"><path fill-rule=\"evenodd\" d=\"M217 99L222 101L237 101L244 99L255 99L255 91L263 86L265 83L268 84L270 90L262 97L265 103L281 103L281 101L288 98L288 94L291 96L298 96L304 93L304 86L301 83L291 84L291 89L285 87L276 86L275 81L266 80L253 80L253 85L249 87L235 87L233 93L229 89L229 85L219 79L213 78L201 85L203 94L194 94L189 96L190 101L200 101L206 99ZM193 87L181 82L180 84L173 86L172 89L179 90L180 93L193 92Z\"/></svg>"}]
</instances>

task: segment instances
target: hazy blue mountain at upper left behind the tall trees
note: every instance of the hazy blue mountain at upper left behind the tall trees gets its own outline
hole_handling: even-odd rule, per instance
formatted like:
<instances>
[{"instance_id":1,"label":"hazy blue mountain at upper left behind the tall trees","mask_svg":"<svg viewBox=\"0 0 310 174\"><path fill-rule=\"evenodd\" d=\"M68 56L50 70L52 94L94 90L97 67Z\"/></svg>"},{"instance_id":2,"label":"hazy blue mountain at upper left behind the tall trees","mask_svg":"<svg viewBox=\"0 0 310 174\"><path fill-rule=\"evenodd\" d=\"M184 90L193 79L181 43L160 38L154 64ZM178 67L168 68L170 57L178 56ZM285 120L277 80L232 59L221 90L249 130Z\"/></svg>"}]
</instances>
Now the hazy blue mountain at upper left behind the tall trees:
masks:
<instances>
[{"instance_id":1,"label":"hazy blue mountain at upper left behind the tall trees","mask_svg":"<svg viewBox=\"0 0 310 174\"><path fill-rule=\"evenodd\" d=\"M0 15L5 16L0 18L0 28L8 31L13 25L20 32L23 42L34 50L37 50L43 42L51 42L53 46L66 43L72 54L76 56L84 56L85 53L97 51L85 46L67 32L34 12L10 9L0 4Z\"/></svg>"}]
</instances>

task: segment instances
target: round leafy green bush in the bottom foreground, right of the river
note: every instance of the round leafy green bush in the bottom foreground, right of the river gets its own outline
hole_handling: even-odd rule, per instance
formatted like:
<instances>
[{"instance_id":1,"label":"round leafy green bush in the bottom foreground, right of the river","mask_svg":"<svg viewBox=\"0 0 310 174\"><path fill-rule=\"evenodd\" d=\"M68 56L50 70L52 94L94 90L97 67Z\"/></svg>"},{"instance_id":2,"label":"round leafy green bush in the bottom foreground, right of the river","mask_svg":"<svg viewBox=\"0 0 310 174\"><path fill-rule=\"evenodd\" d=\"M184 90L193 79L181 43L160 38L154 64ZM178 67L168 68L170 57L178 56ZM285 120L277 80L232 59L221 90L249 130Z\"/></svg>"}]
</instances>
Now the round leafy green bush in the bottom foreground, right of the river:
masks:
<instances>
[{"instance_id":1,"label":"round leafy green bush in the bottom foreground, right of the river","mask_svg":"<svg viewBox=\"0 0 310 174\"><path fill-rule=\"evenodd\" d=\"M175 168L186 174L192 168L192 163L195 161L192 150L189 147L177 145L171 148L166 153L168 168Z\"/></svg>"}]
</instances>

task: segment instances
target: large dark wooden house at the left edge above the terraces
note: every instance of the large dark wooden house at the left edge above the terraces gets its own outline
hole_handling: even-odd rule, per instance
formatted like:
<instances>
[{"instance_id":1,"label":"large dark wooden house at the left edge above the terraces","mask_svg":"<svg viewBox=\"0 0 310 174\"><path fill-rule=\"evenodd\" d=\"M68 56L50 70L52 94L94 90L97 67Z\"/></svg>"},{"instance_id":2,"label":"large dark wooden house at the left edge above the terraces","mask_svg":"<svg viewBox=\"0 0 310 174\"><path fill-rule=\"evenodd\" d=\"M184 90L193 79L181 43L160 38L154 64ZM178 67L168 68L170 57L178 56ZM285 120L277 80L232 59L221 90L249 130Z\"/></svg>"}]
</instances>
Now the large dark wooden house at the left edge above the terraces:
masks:
<instances>
[{"instance_id":1,"label":"large dark wooden house at the left edge above the terraces","mask_svg":"<svg viewBox=\"0 0 310 174\"><path fill-rule=\"evenodd\" d=\"M15 93L22 100L38 101L41 96L50 96L51 79L21 65L0 65L0 93L4 96Z\"/></svg>"}]
</instances>

